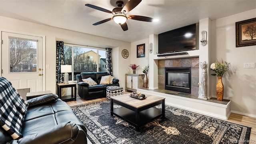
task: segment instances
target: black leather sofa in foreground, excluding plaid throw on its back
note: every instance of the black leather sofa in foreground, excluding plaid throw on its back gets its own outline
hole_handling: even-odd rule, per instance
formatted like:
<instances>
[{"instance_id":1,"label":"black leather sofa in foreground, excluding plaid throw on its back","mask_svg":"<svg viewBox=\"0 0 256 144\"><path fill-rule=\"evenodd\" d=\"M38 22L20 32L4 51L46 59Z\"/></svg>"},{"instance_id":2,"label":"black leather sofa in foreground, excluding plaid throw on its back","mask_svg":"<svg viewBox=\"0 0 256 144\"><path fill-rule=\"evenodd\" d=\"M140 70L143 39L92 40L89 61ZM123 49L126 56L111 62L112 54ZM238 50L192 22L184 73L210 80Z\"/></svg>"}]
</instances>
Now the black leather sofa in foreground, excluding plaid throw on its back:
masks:
<instances>
[{"instance_id":1,"label":"black leather sofa in foreground, excluding plaid throw on its back","mask_svg":"<svg viewBox=\"0 0 256 144\"><path fill-rule=\"evenodd\" d=\"M27 102L23 138L13 140L0 127L0 144L87 144L84 124L58 95L47 94Z\"/></svg>"}]
</instances>

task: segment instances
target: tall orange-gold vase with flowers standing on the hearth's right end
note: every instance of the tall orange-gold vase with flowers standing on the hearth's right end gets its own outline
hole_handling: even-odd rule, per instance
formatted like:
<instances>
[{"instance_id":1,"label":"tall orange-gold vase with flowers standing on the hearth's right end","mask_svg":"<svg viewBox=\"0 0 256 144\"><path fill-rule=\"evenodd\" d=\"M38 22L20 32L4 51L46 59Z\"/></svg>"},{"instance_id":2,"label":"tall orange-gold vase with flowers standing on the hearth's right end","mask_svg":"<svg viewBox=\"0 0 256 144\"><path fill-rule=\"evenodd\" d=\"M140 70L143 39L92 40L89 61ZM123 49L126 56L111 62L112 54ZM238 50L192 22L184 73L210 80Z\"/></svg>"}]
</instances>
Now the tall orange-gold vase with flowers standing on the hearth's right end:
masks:
<instances>
[{"instance_id":1,"label":"tall orange-gold vase with flowers standing on the hearth's right end","mask_svg":"<svg viewBox=\"0 0 256 144\"><path fill-rule=\"evenodd\" d=\"M230 67L230 63L221 60L217 62L214 62L211 64L210 68L215 72L215 74L211 74L212 76L218 77L218 82L216 84L216 97L217 100L222 101L223 100L223 91L224 86L222 83L222 76L225 74L226 71L228 71L228 68Z\"/></svg>"}]
</instances>

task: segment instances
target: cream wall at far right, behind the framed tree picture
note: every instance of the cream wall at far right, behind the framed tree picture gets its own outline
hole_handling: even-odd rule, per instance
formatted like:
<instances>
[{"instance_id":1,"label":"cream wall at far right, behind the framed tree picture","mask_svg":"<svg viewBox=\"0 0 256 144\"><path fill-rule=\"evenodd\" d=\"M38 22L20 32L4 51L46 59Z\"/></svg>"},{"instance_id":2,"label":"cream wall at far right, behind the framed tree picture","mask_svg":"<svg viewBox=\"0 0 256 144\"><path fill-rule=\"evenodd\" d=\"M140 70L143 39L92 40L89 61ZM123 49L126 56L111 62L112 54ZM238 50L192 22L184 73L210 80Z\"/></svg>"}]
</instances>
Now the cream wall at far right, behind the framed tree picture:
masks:
<instances>
[{"instance_id":1,"label":"cream wall at far right, behind the framed tree picture","mask_svg":"<svg viewBox=\"0 0 256 144\"><path fill-rule=\"evenodd\" d=\"M230 72L224 74L224 98L231 98L234 113L256 117L256 69L244 68L244 62L256 62L256 46L236 48L236 22L256 17L256 9L212 21L216 27L216 58L231 63ZM213 46L212 46L213 48ZM212 57L212 62L216 59ZM217 78L212 80L216 86ZM214 89L214 88L213 88ZM215 91L212 90L212 95Z\"/></svg>"}]
</instances>

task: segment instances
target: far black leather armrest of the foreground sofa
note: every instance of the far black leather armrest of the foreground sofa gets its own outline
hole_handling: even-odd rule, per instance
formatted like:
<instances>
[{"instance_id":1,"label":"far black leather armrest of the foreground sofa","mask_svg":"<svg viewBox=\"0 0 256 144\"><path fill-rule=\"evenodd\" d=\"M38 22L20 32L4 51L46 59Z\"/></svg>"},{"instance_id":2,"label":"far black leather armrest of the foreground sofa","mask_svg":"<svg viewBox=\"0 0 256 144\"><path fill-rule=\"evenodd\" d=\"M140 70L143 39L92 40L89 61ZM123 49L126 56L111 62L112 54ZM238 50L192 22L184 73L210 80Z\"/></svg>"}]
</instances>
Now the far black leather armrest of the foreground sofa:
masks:
<instances>
[{"instance_id":1,"label":"far black leather armrest of the foreground sofa","mask_svg":"<svg viewBox=\"0 0 256 144\"><path fill-rule=\"evenodd\" d=\"M32 98L30 100L27 100L28 107L34 107L34 106L40 106L42 104L49 104L58 99L57 94L45 94L43 96L38 96L36 98Z\"/></svg>"}]
</instances>

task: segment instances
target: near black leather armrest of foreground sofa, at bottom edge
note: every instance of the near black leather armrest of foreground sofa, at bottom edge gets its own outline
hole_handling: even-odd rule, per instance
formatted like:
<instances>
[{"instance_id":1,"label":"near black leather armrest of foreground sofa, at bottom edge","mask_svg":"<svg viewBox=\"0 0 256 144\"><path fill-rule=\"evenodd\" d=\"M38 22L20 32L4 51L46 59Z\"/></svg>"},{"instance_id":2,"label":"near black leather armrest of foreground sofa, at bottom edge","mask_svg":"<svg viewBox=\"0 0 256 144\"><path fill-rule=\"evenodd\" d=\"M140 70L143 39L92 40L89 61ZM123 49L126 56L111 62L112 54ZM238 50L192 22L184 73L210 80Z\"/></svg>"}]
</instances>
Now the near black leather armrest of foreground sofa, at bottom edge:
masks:
<instances>
[{"instance_id":1,"label":"near black leather armrest of foreground sofa, at bottom edge","mask_svg":"<svg viewBox=\"0 0 256 144\"><path fill-rule=\"evenodd\" d=\"M78 126L74 122L61 123L37 134L12 140L10 144L72 144L78 131Z\"/></svg>"}]
</instances>

